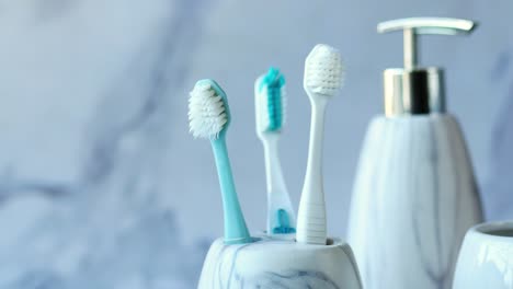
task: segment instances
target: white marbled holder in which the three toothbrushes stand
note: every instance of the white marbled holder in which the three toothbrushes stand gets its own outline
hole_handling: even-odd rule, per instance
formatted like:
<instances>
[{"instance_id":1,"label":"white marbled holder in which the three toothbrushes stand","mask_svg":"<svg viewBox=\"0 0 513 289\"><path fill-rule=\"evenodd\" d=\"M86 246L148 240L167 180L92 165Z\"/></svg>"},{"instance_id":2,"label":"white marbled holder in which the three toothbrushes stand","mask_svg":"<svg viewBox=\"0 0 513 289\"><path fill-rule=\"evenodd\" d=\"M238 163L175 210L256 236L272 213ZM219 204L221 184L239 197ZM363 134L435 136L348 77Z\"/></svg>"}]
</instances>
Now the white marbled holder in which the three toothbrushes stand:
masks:
<instances>
[{"instance_id":1,"label":"white marbled holder in which the three toothbrushes stand","mask_svg":"<svg viewBox=\"0 0 513 289\"><path fill-rule=\"evenodd\" d=\"M205 258L198 288L361 289L362 282L353 251L340 239L309 245L262 236L235 245L217 239Z\"/></svg>"}]
</instances>

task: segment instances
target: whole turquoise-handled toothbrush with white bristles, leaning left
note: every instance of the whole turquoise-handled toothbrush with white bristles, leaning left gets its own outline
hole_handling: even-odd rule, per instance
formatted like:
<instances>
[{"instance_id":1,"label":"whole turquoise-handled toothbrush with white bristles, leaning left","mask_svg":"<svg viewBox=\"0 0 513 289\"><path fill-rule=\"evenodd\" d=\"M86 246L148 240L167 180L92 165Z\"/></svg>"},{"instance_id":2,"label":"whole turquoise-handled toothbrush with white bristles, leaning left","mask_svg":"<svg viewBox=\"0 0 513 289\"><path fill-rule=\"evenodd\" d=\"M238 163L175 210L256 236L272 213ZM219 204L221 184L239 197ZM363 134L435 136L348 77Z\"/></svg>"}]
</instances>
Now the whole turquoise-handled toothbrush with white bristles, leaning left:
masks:
<instances>
[{"instance_id":1,"label":"whole turquoise-handled toothbrush with white bristles, leaning left","mask_svg":"<svg viewBox=\"0 0 513 289\"><path fill-rule=\"evenodd\" d=\"M230 160L226 148L226 130L230 124L230 111L226 93L214 80L196 82L189 100L190 131L195 138L210 140L223 195L225 217L225 243L250 243L233 184Z\"/></svg>"}]
</instances>

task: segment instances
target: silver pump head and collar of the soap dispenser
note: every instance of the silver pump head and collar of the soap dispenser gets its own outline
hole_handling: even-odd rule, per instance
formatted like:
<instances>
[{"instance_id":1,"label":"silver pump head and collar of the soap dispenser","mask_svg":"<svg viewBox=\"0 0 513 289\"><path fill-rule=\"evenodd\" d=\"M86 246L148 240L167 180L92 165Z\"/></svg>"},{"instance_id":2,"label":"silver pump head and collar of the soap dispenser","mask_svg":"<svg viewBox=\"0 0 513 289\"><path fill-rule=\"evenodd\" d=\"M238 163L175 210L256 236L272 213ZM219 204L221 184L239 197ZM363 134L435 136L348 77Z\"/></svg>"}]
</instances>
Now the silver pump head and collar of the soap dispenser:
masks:
<instances>
[{"instance_id":1,"label":"silver pump head and collar of the soap dispenser","mask_svg":"<svg viewBox=\"0 0 513 289\"><path fill-rule=\"evenodd\" d=\"M381 22L378 33L403 31L404 68L384 72L385 114L387 116L445 112L443 70L418 67L418 36L421 34L469 34L476 23L446 18L409 18Z\"/></svg>"}]
</instances>

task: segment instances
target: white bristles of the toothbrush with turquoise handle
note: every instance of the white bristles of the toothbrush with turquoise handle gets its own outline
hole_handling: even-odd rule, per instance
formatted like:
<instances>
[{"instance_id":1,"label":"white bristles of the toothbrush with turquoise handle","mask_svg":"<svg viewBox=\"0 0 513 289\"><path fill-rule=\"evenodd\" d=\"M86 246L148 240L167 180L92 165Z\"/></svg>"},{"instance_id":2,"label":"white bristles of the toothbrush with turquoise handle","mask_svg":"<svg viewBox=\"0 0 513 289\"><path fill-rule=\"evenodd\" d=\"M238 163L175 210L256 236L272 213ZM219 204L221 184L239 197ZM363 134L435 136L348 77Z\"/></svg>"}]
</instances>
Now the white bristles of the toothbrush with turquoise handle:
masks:
<instances>
[{"instance_id":1,"label":"white bristles of the toothbrush with turquoise handle","mask_svg":"<svg viewBox=\"0 0 513 289\"><path fill-rule=\"evenodd\" d=\"M196 84L190 95L190 131L195 138L217 138L228 122L223 99L209 84Z\"/></svg>"}]
</instances>

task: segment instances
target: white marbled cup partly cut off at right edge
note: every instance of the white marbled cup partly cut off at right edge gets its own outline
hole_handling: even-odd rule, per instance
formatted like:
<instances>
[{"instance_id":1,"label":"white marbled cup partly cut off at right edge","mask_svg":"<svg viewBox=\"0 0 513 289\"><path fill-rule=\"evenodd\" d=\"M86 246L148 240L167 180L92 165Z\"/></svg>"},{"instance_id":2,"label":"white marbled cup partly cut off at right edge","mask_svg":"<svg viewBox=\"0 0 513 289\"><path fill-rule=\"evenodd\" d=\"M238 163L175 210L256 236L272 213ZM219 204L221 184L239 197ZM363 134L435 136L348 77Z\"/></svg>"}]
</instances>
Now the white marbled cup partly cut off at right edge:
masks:
<instances>
[{"instance_id":1,"label":"white marbled cup partly cut off at right edge","mask_svg":"<svg viewBox=\"0 0 513 289\"><path fill-rule=\"evenodd\" d=\"M478 224L465 235L453 289L513 288L513 221Z\"/></svg>"}]
</instances>

